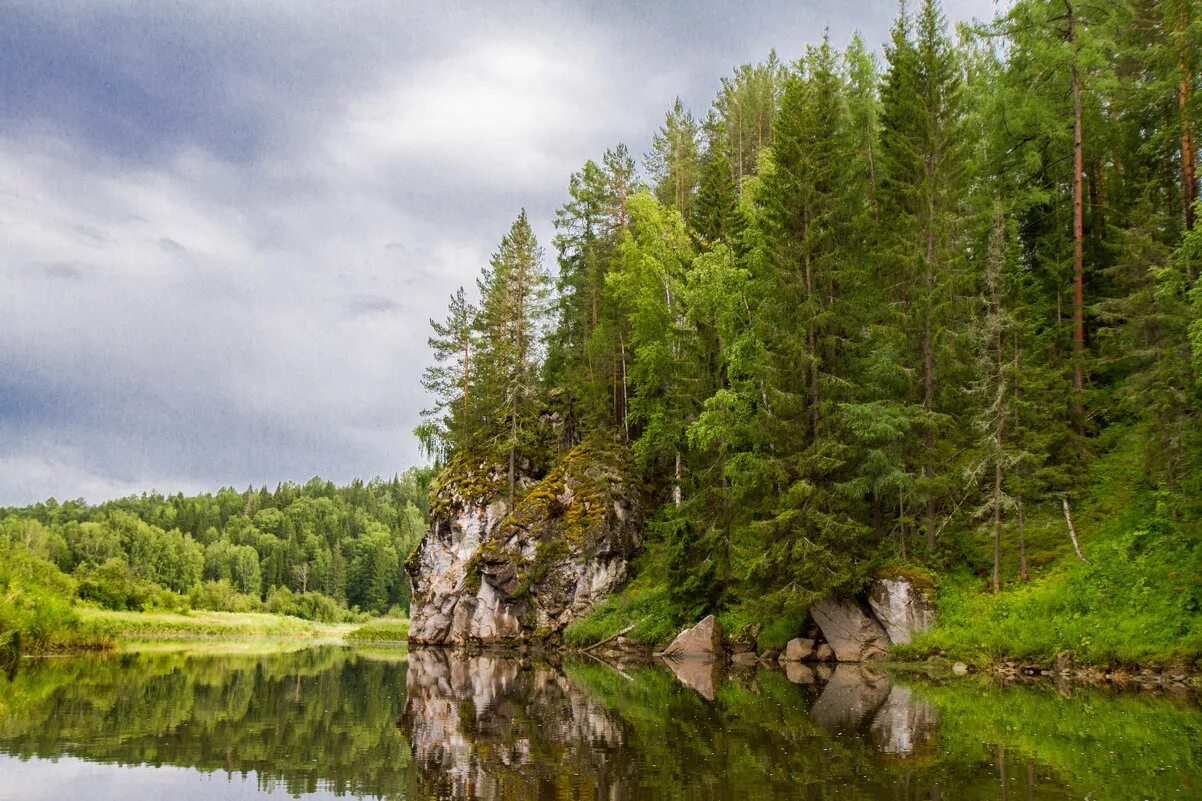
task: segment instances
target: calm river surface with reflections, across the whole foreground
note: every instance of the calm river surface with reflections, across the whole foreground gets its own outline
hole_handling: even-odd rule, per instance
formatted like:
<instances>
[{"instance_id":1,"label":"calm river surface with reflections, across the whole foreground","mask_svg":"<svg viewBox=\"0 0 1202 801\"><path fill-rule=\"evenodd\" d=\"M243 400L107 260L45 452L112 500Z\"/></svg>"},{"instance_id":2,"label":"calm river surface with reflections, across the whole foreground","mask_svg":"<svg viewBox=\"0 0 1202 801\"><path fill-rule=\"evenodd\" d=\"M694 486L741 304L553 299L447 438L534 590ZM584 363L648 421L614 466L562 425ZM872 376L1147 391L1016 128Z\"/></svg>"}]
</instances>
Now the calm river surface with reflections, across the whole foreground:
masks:
<instances>
[{"instance_id":1,"label":"calm river surface with reflections, across the whole foreground","mask_svg":"<svg viewBox=\"0 0 1202 801\"><path fill-rule=\"evenodd\" d=\"M440 651L0 677L0 799L1202 799L1189 699Z\"/></svg>"}]
</instances>

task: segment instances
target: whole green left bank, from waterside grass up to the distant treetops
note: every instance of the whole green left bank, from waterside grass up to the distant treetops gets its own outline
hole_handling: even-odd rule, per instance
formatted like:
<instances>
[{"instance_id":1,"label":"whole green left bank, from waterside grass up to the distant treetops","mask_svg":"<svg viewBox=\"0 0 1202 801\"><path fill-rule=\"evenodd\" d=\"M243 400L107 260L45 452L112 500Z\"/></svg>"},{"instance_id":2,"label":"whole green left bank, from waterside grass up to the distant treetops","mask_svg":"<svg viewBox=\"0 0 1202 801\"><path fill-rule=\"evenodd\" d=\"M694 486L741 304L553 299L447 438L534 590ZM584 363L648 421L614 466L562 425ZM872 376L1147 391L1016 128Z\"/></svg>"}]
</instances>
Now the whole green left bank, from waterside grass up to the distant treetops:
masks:
<instances>
[{"instance_id":1,"label":"whole green left bank, from waterside grass up to the distant treetops","mask_svg":"<svg viewBox=\"0 0 1202 801\"><path fill-rule=\"evenodd\" d=\"M314 479L0 510L0 652L334 636L353 628L337 624L403 618L400 562L424 527L427 481L412 469L346 487Z\"/></svg>"}]
</instances>

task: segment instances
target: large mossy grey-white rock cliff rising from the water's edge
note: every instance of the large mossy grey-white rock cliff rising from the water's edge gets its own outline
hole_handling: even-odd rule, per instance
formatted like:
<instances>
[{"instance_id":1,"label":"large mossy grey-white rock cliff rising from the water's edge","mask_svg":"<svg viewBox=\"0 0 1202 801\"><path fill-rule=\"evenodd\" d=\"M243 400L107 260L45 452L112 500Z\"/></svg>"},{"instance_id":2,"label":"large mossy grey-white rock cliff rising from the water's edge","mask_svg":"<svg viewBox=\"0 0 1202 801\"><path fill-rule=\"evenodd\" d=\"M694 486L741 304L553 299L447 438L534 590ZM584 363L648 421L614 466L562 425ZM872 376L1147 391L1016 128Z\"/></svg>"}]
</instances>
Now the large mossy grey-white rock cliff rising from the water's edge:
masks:
<instances>
[{"instance_id":1,"label":"large mossy grey-white rock cliff rising from the water's edge","mask_svg":"<svg viewBox=\"0 0 1202 801\"><path fill-rule=\"evenodd\" d=\"M518 645L554 637L629 577L642 547L630 452L585 440L507 502L502 465L457 457L432 491L432 527L405 564L409 639Z\"/></svg>"}]
</instances>

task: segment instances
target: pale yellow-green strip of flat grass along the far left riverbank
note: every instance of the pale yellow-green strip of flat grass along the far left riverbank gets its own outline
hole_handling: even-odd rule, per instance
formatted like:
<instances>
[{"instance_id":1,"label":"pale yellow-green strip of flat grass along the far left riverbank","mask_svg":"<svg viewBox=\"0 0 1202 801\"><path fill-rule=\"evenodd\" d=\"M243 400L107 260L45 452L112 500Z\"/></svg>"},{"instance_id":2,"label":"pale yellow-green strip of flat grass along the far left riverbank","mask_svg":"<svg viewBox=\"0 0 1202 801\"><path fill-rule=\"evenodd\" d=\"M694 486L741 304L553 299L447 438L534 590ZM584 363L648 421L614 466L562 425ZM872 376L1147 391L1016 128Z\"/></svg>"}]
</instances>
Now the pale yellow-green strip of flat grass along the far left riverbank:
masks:
<instances>
[{"instance_id":1,"label":"pale yellow-green strip of flat grass along the far left riverbank","mask_svg":"<svg viewBox=\"0 0 1202 801\"><path fill-rule=\"evenodd\" d=\"M117 612L102 609L78 610L87 630L113 640L157 640L190 637L307 637L345 636L352 624L303 621L268 612Z\"/></svg>"}]
</instances>

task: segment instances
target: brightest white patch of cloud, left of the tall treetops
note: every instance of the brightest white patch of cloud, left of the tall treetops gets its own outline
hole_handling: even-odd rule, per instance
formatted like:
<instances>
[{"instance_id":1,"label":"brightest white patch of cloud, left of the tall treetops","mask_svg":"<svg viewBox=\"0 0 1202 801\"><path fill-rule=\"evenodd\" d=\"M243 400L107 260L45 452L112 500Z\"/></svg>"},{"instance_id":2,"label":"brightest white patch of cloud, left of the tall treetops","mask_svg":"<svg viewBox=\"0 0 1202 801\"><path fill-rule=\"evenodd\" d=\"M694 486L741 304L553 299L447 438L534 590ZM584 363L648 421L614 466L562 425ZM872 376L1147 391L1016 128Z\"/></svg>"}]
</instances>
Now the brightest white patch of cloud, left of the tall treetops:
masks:
<instances>
[{"instance_id":1,"label":"brightest white patch of cloud, left of the tall treetops","mask_svg":"<svg viewBox=\"0 0 1202 801\"><path fill-rule=\"evenodd\" d=\"M389 76L352 102L333 158L353 170L434 161L457 177L540 190L578 166L613 87L578 41L477 41Z\"/></svg>"}]
</instances>

